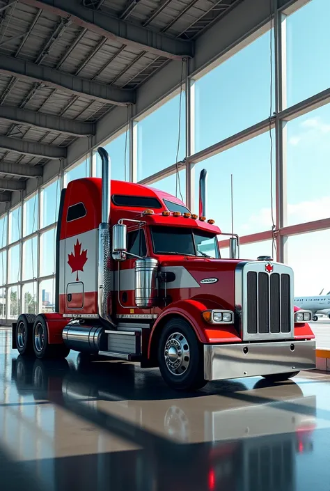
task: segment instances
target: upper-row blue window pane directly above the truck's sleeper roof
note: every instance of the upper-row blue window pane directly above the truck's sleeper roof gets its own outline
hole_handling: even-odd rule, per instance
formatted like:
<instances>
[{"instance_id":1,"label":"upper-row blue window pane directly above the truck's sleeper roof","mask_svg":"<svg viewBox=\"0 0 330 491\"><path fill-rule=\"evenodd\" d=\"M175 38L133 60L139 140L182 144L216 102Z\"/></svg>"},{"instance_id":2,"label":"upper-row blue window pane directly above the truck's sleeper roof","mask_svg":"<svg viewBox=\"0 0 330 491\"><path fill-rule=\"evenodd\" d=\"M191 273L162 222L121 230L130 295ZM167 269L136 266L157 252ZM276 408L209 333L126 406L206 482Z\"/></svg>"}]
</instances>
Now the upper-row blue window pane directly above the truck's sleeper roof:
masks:
<instances>
[{"instance_id":1,"label":"upper-row blue window pane directly above the truck's sleeper roof","mask_svg":"<svg viewBox=\"0 0 330 491\"><path fill-rule=\"evenodd\" d=\"M137 123L138 180L175 164L178 152L180 94ZM185 101L181 95L180 148L178 160L185 155Z\"/></svg>"}]
</instances>

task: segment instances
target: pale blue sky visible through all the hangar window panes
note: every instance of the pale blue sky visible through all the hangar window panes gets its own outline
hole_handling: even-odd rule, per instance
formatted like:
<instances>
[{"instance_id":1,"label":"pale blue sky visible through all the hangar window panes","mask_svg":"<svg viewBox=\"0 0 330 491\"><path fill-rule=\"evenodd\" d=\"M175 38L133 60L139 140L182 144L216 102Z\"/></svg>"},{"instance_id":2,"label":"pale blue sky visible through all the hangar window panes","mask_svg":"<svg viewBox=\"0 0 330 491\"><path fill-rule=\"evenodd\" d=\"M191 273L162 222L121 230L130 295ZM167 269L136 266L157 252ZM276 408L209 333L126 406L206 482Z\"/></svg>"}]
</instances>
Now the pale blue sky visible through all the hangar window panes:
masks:
<instances>
[{"instance_id":1,"label":"pale blue sky visible through all the hangar window panes","mask_svg":"<svg viewBox=\"0 0 330 491\"><path fill-rule=\"evenodd\" d=\"M289 106L330 86L330 63L327 62L330 41L329 20L330 1L311 0L306 6L290 15L286 21ZM196 81L195 151L269 117L270 41L270 33L265 33ZM274 39L272 47L272 110L274 111ZM175 163L178 151L179 102L180 95L176 95L139 121L137 125L138 180ZM185 100L182 93L178 159L182 159L185 153L184 116ZM329 217L330 193L327 183L330 157L329 104L288 122L285 130L287 132L288 224ZM274 132L272 138L274 146L272 191L275 212ZM111 177L124 180L126 174L128 179L129 135L125 132L120 134L106 148L111 157ZM231 230L230 174L232 173L235 232L242 236L269 230L272 227L270 155L271 139L269 132L265 132L195 166L196 198L199 173L202 169L207 169L207 215L216 220L223 232ZM65 184L72 179L85 176L86 171L88 171L88 162L82 162L65 174ZM100 173L100 158L97 155L96 175L100 176ZM159 180L153 187L175 194L175 180L176 176L170 176ZM180 184L185 199L185 171L180 171ZM57 181L42 191L42 227L54 223L57 219L59 195ZM31 233L33 229L34 199L26 203L25 208L28 221L24 235ZM13 212L11 219L16 224L13 228L13 240L15 240L19 234L18 212ZM42 249L49 250L50 255L53 256L51 239L49 235L45 236L42 242L45 247ZM288 239L288 258L296 275L297 295L319 293L322 288L330 290L330 265L324 265L323 260L325 256L323 251L329 247L329 240L330 231ZM224 250L223 254L228 254L228 251ZM272 255L271 241L249 244L241 248L241 257L256 258L260 254ZM52 274L53 260L48 261L46 257L42 257L41 270L43 274ZM26 272L28 273L31 274Z\"/></svg>"}]
</instances>

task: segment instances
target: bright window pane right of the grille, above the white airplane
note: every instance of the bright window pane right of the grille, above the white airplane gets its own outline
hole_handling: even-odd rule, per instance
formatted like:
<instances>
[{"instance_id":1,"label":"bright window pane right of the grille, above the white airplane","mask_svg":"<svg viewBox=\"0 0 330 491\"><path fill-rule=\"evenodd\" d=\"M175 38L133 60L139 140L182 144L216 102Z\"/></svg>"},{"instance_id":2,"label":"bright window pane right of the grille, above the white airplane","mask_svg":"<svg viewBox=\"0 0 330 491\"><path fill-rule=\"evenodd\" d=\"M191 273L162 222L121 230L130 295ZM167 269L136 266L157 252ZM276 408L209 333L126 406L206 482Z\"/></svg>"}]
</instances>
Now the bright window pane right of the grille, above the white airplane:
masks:
<instances>
[{"instance_id":1,"label":"bright window pane right of the grille, above the white airplane","mask_svg":"<svg viewBox=\"0 0 330 491\"><path fill-rule=\"evenodd\" d=\"M288 264L294 270L294 296L319 295L330 290L327 252L330 230L288 237ZM313 260L311 260L313 258Z\"/></svg>"}]
</instances>

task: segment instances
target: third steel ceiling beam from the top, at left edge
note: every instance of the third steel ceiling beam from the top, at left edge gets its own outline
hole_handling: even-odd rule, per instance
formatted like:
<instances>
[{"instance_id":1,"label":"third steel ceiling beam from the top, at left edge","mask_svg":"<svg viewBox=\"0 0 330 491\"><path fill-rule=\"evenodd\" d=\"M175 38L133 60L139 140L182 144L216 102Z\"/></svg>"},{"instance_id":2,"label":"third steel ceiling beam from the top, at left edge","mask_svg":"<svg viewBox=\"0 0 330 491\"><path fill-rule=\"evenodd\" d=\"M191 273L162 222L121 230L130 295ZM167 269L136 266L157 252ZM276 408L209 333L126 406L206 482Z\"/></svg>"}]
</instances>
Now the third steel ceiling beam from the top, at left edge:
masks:
<instances>
[{"instance_id":1,"label":"third steel ceiling beam from the top, at left edge","mask_svg":"<svg viewBox=\"0 0 330 491\"><path fill-rule=\"evenodd\" d=\"M58 131L74 137L86 137L95 134L95 125L92 123L58 118L58 116L53 116L52 114L37 113L13 106L0 106L0 119L43 130Z\"/></svg>"}]
</instances>

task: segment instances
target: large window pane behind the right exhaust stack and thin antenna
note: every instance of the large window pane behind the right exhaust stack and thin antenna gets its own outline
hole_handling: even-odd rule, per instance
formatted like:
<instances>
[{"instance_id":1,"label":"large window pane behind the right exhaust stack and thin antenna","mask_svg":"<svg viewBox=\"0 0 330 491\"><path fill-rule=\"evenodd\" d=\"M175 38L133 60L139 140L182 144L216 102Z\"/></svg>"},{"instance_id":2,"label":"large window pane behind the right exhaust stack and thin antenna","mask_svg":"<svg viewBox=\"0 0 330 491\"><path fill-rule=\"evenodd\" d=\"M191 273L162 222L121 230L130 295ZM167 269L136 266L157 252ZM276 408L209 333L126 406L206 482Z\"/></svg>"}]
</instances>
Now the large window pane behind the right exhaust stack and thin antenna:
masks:
<instances>
[{"instance_id":1,"label":"large window pane behind the right exhaust stack and thin antenna","mask_svg":"<svg viewBox=\"0 0 330 491\"><path fill-rule=\"evenodd\" d=\"M273 140L273 216L275 210L275 135ZM230 175L233 174L234 233L249 235L272 229L269 132L245 141L195 166L195 212L198 182L207 170L207 219L214 219L223 233L231 231Z\"/></svg>"}]
</instances>

